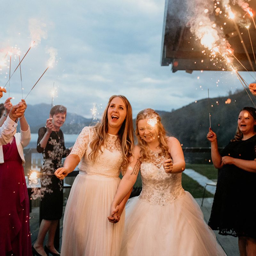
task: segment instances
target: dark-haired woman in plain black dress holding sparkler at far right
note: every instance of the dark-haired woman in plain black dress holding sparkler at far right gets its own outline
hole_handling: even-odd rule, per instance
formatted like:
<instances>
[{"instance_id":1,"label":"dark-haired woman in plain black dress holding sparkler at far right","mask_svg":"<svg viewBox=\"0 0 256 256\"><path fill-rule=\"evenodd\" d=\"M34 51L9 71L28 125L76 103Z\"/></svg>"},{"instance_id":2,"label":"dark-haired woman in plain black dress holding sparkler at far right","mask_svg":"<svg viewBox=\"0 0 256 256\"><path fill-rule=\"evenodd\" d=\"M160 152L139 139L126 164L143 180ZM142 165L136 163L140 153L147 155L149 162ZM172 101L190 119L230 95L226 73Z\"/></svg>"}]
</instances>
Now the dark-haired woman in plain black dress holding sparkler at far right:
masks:
<instances>
[{"instance_id":1,"label":"dark-haired woman in plain black dress holding sparkler at far right","mask_svg":"<svg viewBox=\"0 0 256 256\"><path fill-rule=\"evenodd\" d=\"M220 169L209 226L221 235L238 236L241 256L256 255L256 109L245 107L236 135L218 151L216 134L209 129L212 162Z\"/></svg>"}]
</instances>

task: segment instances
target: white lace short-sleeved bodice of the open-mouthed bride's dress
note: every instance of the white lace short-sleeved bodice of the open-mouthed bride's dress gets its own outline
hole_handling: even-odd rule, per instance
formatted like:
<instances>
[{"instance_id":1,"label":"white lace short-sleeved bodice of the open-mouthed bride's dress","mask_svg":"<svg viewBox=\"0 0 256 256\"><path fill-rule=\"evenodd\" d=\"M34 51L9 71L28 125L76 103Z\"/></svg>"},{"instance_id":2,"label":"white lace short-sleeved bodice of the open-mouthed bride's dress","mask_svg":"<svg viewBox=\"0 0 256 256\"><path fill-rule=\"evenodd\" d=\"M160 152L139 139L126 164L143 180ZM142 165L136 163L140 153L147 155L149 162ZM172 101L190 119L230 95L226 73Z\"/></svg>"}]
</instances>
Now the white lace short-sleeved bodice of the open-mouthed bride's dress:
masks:
<instances>
[{"instance_id":1,"label":"white lace short-sleeved bodice of the open-mouthed bride's dress","mask_svg":"<svg viewBox=\"0 0 256 256\"><path fill-rule=\"evenodd\" d=\"M78 168L80 172L113 178L119 177L123 156L118 136L108 134L105 145L101 148L103 153L99 152L95 162L88 158L88 155L92 152L90 143L94 138L93 127L84 127L70 153L79 156Z\"/></svg>"}]
</instances>

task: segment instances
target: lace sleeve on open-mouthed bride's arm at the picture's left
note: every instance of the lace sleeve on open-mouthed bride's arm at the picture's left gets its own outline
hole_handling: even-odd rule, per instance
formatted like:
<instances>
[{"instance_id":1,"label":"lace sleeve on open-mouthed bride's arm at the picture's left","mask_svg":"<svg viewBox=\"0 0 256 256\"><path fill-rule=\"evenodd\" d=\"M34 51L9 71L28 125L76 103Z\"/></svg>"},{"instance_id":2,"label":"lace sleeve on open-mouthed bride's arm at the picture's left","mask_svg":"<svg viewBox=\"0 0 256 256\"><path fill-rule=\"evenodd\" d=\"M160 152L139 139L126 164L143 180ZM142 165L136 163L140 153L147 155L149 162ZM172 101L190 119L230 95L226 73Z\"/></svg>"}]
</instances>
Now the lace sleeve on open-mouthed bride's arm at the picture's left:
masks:
<instances>
[{"instance_id":1,"label":"lace sleeve on open-mouthed bride's arm at the picture's left","mask_svg":"<svg viewBox=\"0 0 256 256\"><path fill-rule=\"evenodd\" d=\"M90 132L90 127L86 126L83 128L82 132L80 132L76 139L76 143L72 148L70 155L75 154L79 156L79 159L81 160L81 158L84 156L87 145L89 143Z\"/></svg>"}]
</instances>

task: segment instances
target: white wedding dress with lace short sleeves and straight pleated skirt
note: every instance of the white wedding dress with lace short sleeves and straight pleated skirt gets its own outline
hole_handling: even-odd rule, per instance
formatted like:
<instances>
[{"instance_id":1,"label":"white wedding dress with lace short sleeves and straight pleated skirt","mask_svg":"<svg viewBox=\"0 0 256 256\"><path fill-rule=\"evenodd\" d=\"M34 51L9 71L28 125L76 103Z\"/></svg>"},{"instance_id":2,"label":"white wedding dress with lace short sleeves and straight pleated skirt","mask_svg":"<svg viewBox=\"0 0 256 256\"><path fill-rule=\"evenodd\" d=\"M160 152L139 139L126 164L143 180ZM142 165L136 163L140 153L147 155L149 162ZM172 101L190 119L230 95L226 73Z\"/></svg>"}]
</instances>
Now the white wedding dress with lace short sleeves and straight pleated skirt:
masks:
<instances>
[{"instance_id":1,"label":"white wedding dress with lace short sleeves and straight pleated skirt","mask_svg":"<svg viewBox=\"0 0 256 256\"><path fill-rule=\"evenodd\" d=\"M108 134L103 153L93 162L88 158L95 138L92 128L84 127L70 153L81 161L65 209L61 256L120 254L125 212L116 224L107 218L120 182L120 142L117 136Z\"/></svg>"}]
</instances>

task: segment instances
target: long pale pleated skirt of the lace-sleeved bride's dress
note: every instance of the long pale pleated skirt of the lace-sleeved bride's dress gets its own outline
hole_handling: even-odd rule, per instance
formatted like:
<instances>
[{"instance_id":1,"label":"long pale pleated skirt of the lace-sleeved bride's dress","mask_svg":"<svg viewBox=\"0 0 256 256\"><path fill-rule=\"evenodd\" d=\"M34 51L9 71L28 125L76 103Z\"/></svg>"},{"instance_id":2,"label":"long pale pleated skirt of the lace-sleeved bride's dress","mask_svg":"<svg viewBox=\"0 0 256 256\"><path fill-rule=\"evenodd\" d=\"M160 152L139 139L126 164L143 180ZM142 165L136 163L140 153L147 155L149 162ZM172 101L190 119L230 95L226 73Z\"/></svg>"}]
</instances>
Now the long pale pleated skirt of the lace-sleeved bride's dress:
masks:
<instances>
[{"instance_id":1,"label":"long pale pleated skirt of the lace-sleeved bride's dress","mask_svg":"<svg viewBox=\"0 0 256 256\"><path fill-rule=\"evenodd\" d=\"M120 254L125 211L118 223L108 221L120 178L78 174L68 197L62 256L115 256Z\"/></svg>"}]
</instances>

